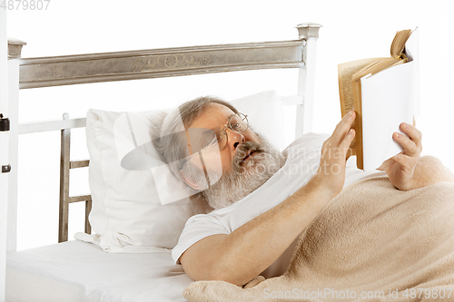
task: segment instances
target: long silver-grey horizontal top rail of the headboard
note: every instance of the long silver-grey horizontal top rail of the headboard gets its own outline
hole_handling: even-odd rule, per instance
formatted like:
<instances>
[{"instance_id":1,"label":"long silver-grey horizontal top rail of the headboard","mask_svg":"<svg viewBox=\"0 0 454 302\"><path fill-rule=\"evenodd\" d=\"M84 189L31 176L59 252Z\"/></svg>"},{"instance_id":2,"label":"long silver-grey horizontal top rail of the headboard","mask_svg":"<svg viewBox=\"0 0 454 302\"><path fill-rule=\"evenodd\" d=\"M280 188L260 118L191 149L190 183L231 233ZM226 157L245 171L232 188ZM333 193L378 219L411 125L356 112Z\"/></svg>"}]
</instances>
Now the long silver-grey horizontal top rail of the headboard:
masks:
<instances>
[{"instance_id":1,"label":"long silver-grey horizontal top rail of the headboard","mask_svg":"<svg viewBox=\"0 0 454 302\"><path fill-rule=\"evenodd\" d=\"M200 73L299 68L304 40L21 60L20 89Z\"/></svg>"}]
</instances>

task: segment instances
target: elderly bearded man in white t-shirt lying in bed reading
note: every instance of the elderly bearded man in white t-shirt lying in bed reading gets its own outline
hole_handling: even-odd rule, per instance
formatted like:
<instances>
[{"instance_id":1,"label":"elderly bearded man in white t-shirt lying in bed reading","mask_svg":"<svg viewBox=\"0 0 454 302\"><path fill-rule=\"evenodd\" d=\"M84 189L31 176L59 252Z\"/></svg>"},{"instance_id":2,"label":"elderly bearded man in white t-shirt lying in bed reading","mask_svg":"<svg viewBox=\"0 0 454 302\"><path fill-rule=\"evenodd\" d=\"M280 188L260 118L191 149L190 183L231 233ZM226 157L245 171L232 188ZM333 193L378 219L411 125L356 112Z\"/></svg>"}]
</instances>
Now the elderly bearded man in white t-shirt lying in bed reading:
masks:
<instances>
[{"instance_id":1,"label":"elderly bearded man in white t-shirt lying in bed reading","mask_svg":"<svg viewBox=\"0 0 454 302\"><path fill-rule=\"evenodd\" d=\"M167 116L161 132L167 138L161 141L164 159L185 158L173 164L173 172L193 189L202 190L214 209L188 220L173 248L173 259L194 280L244 285L258 275L280 276L302 230L344 186L384 174L365 174L346 165L354 119L355 112L349 112L328 139L308 134L282 154L252 131L244 114L215 98L186 102ZM400 129L407 136L396 132L393 139L404 151L380 167L397 189L454 182L440 161L419 158L421 134L415 127L402 123ZM193 130L206 132L192 135ZM185 132L185 140L169 135L174 132ZM317 156L312 156L313 151ZM216 166L212 161L221 161L222 175L211 168ZM290 179L284 171L288 174L295 162L307 169L300 172L304 176ZM310 169L314 162L317 169ZM292 180L301 183L296 190L285 191ZM264 189L265 182L274 190Z\"/></svg>"}]
</instances>

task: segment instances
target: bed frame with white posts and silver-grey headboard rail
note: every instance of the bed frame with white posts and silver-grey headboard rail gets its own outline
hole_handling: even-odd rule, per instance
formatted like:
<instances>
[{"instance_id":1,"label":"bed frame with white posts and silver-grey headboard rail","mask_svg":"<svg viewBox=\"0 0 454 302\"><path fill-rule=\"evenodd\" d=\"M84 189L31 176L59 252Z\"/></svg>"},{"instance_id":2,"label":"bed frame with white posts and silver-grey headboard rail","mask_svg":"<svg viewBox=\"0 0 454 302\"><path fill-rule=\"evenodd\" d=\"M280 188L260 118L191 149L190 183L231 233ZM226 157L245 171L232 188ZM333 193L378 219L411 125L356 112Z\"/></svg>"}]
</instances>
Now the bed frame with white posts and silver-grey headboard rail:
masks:
<instances>
[{"instance_id":1,"label":"bed frame with white posts and silver-grey headboard rail","mask_svg":"<svg viewBox=\"0 0 454 302\"><path fill-rule=\"evenodd\" d=\"M5 11L0 10L0 113L10 130L0 132L0 301L5 297L5 258L16 249L18 135L32 132L62 132L59 242L67 240L68 204L90 196L70 197L69 169L85 167L88 161L69 160L70 129L84 127L85 119L18 124L19 90L77 83L99 83L154 77L222 73L258 69L298 68L298 94L283 97L296 104L296 137L311 132L315 50L320 24L297 25L294 41L222 44L154 49L105 54L80 54L21 58L25 42L9 40L6 49ZM3 111L3 112L2 112ZM9 146L7 146L9 145ZM85 232L90 232L88 221Z\"/></svg>"}]
</instances>

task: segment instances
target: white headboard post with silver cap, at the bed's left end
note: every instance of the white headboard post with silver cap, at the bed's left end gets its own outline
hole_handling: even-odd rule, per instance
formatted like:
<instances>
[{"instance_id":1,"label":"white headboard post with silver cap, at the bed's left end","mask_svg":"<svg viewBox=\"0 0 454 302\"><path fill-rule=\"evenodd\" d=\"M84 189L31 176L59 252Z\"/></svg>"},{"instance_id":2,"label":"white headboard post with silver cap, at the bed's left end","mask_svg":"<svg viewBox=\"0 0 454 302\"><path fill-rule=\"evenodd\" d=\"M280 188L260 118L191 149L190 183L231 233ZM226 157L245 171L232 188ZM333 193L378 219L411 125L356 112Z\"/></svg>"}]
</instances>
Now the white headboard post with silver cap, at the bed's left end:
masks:
<instances>
[{"instance_id":1,"label":"white headboard post with silver cap, at the bed's left end","mask_svg":"<svg viewBox=\"0 0 454 302\"><path fill-rule=\"evenodd\" d=\"M8 219L6 251L15 251L17 235L17 156L18 156L18 119L19 119L19 61L25 42L8 40L8 118L9 163L11 171L8 180Z\"/></svg>"}]
</instances>

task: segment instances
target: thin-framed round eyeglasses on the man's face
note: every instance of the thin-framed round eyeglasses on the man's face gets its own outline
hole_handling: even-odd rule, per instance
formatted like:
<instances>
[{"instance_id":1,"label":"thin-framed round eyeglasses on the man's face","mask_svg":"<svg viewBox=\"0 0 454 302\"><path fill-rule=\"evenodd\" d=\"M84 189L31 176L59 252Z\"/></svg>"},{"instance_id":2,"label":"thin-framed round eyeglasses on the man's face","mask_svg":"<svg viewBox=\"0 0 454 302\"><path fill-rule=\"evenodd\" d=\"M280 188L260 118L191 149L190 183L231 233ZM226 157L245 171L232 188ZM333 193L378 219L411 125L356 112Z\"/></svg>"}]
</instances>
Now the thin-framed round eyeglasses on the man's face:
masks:
<instances>
[{"instance_id":1,"label":"thin-framed round eyeglasses on the man's face","mask_svg":"<svg viewBox=\"0 0 454 302\"><path fill-rule=\"evenodd\" d=\"M249 128L248 116L241 112L238 112L231 116L228 125L225 126L222 130L213 130L206 132L206 134L208 135L205 135L205 137L203 138L204 140L206 140L205 146L217 150L224 149L229 139L227 133L225 132L227 128L237 133L245 132Z\"/></svg>"}]
</instances>

